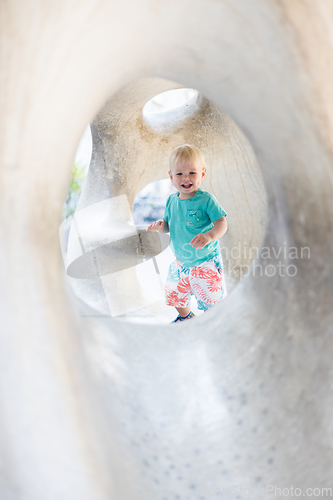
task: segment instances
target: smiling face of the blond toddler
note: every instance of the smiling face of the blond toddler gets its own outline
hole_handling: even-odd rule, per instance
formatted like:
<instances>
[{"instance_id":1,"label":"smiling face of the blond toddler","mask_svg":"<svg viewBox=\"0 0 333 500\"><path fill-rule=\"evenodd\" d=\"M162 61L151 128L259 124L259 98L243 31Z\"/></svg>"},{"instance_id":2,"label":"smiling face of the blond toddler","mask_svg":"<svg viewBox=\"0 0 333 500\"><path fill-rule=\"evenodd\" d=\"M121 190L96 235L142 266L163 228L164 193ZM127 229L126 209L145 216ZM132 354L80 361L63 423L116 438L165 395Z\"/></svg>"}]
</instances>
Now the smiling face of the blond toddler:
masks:
<instances>
[{"instance_id":1,"label":"smiling face of the blond toddler","mask_svg":"<svg viewBox=\"0 0 333 500\"><path fill-rule=\"evenodd\" d=\"M179 198L193 198L206 175L206 168L200 160L173 164L169 171L172 184L179 191Z\"/></svg>"}]
</instances>

